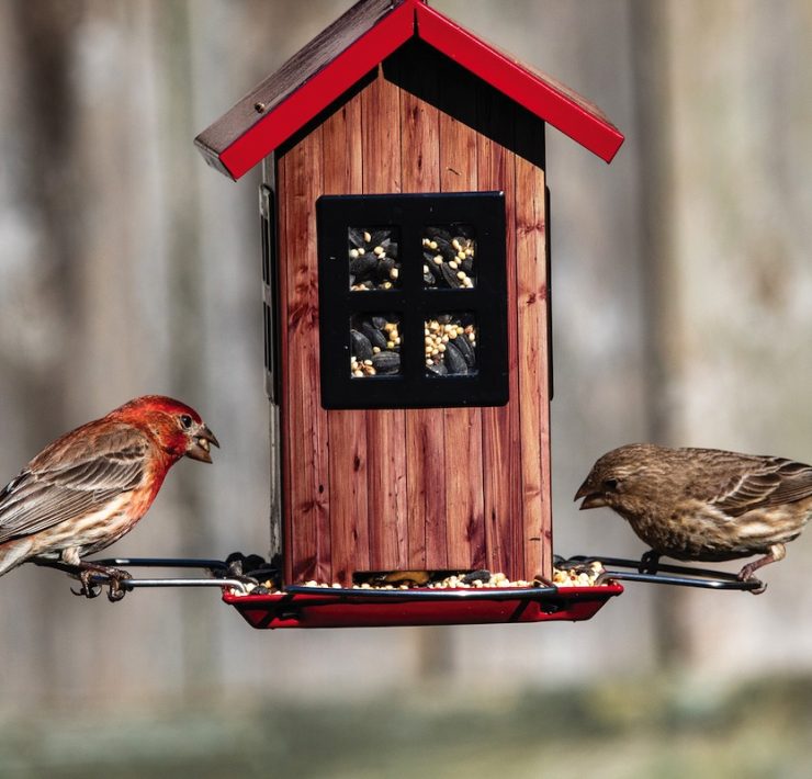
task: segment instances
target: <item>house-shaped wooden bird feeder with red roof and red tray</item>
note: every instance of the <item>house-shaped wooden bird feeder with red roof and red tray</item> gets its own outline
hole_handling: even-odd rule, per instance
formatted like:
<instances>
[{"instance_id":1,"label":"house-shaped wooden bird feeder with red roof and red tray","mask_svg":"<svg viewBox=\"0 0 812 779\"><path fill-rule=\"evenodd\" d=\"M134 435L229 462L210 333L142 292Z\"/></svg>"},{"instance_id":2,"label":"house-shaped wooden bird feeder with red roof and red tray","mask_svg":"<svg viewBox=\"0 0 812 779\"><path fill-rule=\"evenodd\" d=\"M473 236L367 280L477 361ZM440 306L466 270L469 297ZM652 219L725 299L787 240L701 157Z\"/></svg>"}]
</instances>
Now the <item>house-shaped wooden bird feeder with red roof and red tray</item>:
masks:
<instances>
[{"instance_id":1,"label":"house-shaped wooden bird feeder with red roof and red tray","mask_svg":"<svg viewBox=\"0 0 812 779\"><path fill-rule=\"evenodd\" d=\"M623 142L426 2L362 0L196 138L232 179L262 165L281 587L225 596L255 626L580 620L622 591L551 583L546 124ZM363 586L481 569L520 585Z\"/></svg>"}]
</instances>

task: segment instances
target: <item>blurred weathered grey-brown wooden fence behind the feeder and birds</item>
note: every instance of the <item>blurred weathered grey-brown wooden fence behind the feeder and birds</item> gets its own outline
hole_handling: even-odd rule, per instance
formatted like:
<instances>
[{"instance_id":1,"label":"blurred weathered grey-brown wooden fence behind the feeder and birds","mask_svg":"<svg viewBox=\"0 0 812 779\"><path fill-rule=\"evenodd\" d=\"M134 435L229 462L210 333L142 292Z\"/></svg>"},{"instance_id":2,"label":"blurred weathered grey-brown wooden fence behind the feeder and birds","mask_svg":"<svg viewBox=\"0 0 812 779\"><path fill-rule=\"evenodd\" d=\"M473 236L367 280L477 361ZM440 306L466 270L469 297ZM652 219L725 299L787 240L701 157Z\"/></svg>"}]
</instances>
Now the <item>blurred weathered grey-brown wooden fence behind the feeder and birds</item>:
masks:
<instances>
[{"instance_id":1,"label":"blurred weathered grey-brown wooden fence behind the feeder and birds","mask_svg":"<svg viewBox=\"0 0 812 779\"><path fill-rule=\"evenodd\" d=\"M621 443L812 461L809 0L431 4L627 136L607 167L548 134L555 552L643 552L572 503ZM0 484L145 393L223 442L113 554L267 552L259 172L192 139L350 5L0 3ZM809 776L811 567L801 538L758 598L629 585L579 624L269 632L215 591L88 602L24 566L0 582L0 776Z\"/></svg>"}]
</instances>

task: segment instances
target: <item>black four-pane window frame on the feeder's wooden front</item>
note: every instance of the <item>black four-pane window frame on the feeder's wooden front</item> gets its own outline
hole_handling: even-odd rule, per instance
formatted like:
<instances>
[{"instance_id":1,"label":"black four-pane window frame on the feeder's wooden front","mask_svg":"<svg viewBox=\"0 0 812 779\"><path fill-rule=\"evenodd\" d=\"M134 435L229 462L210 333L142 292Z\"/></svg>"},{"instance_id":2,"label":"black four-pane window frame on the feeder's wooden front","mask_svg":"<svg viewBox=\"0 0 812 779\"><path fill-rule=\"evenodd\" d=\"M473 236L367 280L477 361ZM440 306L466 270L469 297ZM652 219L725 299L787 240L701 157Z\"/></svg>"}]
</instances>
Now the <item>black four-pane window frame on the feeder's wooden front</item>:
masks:
<instances>
[{"instance_id":1,"label":"black four-pane window frame on the feeder's wooden front","mask_svg":"<svg viewBox=\"0 0 812 779\"><path fill-rule=\"evenodd\" d=\"M503 406L508 402L507 247L504 192L322 195L318 237L322 405L327 409ZM465 224L475 230L475 284L433 289L422 279L426 227ZM393 228L401 266L397 286L350 290L350 228ZM350 318L399 317L401 373L350 374ZM425 323L439 314L473 313L477 371L427 375Z\"/></svg>"}]
</instances>

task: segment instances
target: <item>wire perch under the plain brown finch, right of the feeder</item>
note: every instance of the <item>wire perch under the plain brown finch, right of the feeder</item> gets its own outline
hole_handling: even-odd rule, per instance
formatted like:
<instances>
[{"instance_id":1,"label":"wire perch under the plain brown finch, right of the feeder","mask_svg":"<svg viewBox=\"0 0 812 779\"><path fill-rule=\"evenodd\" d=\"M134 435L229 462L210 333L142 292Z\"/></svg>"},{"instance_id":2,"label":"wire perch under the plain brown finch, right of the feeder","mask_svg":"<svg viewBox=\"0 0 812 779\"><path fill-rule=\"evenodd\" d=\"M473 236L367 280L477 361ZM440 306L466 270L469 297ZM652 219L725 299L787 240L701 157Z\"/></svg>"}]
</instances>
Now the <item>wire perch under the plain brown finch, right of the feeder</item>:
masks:
<instances>
[{"instance_id":1,"label":"wire perch under the plain brown finch, right of the feeder","mask_svg":"<svg viewBox=\"0 0 812 779\"><path fill-rule=\"evenodd\" d=\"M608 582L647 582L652 584L675 585L679 587L699 587L702 589L732 589L758 595L766 585L760 579L751 578L746 582L736 574L726 571L695 568L687 565L670 565L657 563L653 571L645 571L645 564L639 560L624 557L601 557L599 555L576 555L566 560L556 561L555 565L566 568L567 565L588 565L598 562L605 571L596 579L596 584ZM612 568L628 568L613 571Z\"/></svg>"}]
</instances>

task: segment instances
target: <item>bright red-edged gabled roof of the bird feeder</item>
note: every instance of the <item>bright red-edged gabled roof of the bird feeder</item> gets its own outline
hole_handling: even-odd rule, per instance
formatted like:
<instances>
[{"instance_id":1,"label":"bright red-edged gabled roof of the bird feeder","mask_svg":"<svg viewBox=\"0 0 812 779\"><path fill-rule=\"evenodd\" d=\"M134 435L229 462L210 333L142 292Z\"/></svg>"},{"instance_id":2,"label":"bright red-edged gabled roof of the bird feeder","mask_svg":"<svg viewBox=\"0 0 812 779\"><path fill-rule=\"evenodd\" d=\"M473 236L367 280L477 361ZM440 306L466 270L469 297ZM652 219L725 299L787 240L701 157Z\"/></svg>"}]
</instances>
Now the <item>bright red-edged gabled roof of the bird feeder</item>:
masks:
<instances>
[{"instance_id":1,"label":"bright red-edged gabled roof of the bird feeder","mask_svg":"<svg viewBox=\"0 0 812 779\"><path fill-rule=\"evenodd\" d=\"M416 36L607 162L623 136L584 98L522 65L425 0L361 0L194 140L238 179Z\"/></svg>"}]
</instances>

